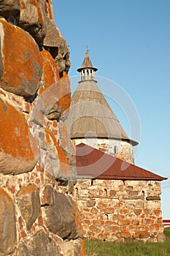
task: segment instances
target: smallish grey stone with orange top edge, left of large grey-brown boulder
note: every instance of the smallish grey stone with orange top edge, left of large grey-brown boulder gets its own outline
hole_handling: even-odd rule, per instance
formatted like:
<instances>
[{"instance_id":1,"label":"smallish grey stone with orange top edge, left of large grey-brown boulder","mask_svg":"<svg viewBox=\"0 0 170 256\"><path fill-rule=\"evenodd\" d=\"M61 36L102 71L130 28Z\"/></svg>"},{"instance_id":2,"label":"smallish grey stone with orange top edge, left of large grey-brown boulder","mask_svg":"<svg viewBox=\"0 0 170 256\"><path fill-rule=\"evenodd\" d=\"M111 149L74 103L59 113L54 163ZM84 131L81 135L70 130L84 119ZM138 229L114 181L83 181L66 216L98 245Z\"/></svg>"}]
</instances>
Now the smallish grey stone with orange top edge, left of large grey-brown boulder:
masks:
<instances>
[{"instance_id":1,"label":"smallish grey stone with orange top edge, left of large grey-brown boulder","mask_svg":"<svg viewBox=\"0 0 170 256\"><path fill-rule=\"evenodd\" d=\"M26 227L29 230L36 218L41 215L38 188L34 184L23 187L18 192L17 200L21 215L26 221Z\"/></svg>"}]
</instances>

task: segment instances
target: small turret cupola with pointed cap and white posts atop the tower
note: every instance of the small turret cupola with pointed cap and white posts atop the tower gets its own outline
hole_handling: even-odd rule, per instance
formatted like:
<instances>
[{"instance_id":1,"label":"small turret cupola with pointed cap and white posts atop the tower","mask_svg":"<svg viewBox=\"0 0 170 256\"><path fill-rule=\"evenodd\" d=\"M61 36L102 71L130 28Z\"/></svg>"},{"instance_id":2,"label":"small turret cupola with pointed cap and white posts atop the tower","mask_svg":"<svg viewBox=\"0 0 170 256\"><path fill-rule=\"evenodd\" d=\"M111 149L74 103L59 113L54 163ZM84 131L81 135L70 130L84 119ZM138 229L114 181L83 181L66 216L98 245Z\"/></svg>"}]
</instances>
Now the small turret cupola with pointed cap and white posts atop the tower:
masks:
<instances>
[{"instance_id":1,"label":"small turret cupola with pointed cap and white posts atop the tower","mask_svg":"<svg viewBox=\"0 0 170 256\"><path fill-rule=\"evenodd\" d=\"M81 74L81 81L84 80L95 80L95 72L98 69L96 69L96 67L93 67L90 58L88 56L88 49L86 50L85 53L85 59L82 62L82 67L80 67L79 69L77 69L78 72L80 72Z\"/></svg>"}]
</instances>

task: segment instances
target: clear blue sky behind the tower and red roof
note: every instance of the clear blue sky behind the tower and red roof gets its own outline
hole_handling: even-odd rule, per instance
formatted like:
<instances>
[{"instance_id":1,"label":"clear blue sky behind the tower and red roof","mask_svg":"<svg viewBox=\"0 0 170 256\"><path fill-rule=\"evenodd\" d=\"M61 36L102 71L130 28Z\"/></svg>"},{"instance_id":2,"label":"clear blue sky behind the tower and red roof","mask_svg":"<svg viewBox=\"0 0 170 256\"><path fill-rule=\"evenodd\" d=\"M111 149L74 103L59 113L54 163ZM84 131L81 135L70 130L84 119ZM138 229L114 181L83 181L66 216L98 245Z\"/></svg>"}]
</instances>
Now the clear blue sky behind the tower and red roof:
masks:
<instances>
[{"instance_id":1,"label":"clear blue sky behind the tower and red roof","mask_svg":"<svg viewBox=\"0 0 170 256\"><path fill-rule=\"evenodd\" d=\"M141 124L135 163L169 178L161 203L163 218L170 219L170 1L65 0L53 7L71 53L71 82L88 45L96 75L115 81L134 102ZM131 137L123 111L109 104Z\"/></svg>"}]
</instances>

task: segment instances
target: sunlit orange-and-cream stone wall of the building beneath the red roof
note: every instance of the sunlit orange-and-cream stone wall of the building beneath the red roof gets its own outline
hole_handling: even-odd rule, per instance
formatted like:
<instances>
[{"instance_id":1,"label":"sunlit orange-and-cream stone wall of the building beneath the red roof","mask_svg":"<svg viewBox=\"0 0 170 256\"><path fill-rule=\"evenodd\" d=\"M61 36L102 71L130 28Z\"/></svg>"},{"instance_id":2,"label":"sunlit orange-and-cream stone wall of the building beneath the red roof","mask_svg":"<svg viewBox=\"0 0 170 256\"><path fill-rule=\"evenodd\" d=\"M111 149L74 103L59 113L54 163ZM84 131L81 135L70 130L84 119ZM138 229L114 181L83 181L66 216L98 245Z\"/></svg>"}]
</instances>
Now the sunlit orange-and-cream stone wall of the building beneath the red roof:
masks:
<instances>
[{"instance_id":1,"label":"sunlit orange-and-cream stone wall of the building beneath the red roof","mask_svg":"<svg viewBox=\"0 0 170 256\"><path fill-rule=\"evenodd\" d=\"M83 237L106 241L164 241L160 181L78 181Z\"/></svg>"}]
</instances>

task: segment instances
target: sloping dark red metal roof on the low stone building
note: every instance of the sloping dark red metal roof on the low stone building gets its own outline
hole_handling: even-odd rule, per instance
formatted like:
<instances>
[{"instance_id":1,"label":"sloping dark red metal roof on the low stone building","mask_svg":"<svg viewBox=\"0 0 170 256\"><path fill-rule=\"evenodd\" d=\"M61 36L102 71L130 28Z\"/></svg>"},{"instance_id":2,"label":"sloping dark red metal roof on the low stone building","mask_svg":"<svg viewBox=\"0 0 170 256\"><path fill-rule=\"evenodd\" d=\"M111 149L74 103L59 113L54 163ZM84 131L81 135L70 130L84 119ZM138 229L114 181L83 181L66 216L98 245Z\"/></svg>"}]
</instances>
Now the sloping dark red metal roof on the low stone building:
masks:
<instances>
[{"instance_id":1,"label":"sloping dark red metal roof on the low stone building","mask_svg":"<svg viewBox=\"0 0 170 256\"><path fill-rule=\"evenodd\" d=\"M163 181L167 178L80 143L77 151L77 175L82 178Z\"/></svg>"}]
</instances>

